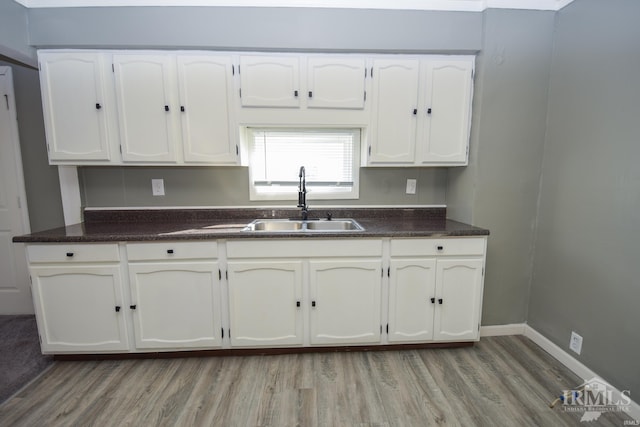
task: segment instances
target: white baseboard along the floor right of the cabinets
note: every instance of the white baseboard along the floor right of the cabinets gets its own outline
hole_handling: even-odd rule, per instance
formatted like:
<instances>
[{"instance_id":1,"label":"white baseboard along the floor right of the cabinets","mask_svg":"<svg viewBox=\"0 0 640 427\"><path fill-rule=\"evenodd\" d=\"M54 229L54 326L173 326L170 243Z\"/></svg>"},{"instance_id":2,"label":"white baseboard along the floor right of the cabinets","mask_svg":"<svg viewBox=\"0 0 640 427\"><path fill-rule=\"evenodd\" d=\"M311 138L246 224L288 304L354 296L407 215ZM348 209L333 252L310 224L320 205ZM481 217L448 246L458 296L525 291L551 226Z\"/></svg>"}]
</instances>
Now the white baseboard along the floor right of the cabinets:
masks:
<instances>
[{"instance_id":1,"label":"white baseboard along the floor right of the cabinets","mask_svg":"<svg viewBox=\"0 0 640 427\"><path fill-rule=\"evenodd\" d=\"M558 347L551 342L548 338L543 336L540 332L533 329L531 326L525 323L515 323L510 325L495 325L495 326L483 326L480 328L481 337L502 336L502 335L524 335L531 341L536 343L540 348L545 350L560 363L562 363L571 372L582 378L584 381L588 381L592 378L602 378L596 372L585 366L582 362L575 357L567 353L564 349ZM605 380L606 382L606 380ZM579 384L567 384L567 387L576 387ZM620 396L620 390L611 386L609 388L613 390L613 398L618 399ZM629 404L629 412L627 415L633 418L634 421L640 421L640 405L631 401Z\"/></svg>"}]
</instances>

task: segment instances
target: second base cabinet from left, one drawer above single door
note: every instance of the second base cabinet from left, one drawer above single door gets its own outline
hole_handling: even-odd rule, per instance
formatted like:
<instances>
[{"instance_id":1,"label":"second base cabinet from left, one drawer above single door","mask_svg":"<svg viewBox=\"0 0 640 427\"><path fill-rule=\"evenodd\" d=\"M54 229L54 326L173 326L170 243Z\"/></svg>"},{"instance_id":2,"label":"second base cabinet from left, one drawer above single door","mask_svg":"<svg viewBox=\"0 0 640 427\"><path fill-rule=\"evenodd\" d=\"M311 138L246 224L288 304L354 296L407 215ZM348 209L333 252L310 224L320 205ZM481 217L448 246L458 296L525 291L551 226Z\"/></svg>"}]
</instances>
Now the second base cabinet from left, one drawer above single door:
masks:
<instances>
[{"instance_id":1,"label":"second base cabinet from left, one drawer above single door","mask_svg":"<svg viewBox=\"0 0 640 427\"><path fill-rule=\"evenodd\" d=\"M222 345L215 242L130 243L127 256L136 348Z\"/></svg>"}]
</instances>

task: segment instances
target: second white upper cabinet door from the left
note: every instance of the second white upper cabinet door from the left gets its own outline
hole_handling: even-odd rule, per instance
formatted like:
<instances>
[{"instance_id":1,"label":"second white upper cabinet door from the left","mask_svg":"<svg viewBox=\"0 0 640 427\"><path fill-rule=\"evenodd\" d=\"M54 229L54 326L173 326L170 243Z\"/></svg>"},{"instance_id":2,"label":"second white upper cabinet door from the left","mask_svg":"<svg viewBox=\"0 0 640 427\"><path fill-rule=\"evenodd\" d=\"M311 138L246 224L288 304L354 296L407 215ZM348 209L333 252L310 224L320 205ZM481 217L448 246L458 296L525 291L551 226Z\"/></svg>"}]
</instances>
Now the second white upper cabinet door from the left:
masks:
<instances>
[{"instance_id":1,"label":"second white upper cabinet door from the left","mask_svg":"<svg viewBox=\"0 0 640 427\"><path fill-rule=\"evenodd\" d=\"M113 63L122 160L175 162L174 57L114 55Z\"/></svg>"}]
</instances>

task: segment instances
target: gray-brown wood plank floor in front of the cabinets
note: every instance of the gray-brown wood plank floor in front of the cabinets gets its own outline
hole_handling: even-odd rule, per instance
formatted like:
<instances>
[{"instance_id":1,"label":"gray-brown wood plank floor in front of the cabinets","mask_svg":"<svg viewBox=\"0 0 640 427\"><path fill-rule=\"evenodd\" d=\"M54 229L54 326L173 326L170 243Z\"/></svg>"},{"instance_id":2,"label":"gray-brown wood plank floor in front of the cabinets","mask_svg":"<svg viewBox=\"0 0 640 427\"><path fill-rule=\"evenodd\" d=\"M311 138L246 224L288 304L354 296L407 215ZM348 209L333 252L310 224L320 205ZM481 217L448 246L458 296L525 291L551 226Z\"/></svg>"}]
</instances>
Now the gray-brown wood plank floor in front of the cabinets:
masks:
<instances>
[{"instance_id":1,"label":"gray-brown wood plank floor in front of the cabinets","mask_svg":"<svg viewBox=\"0 0 640 427\"><path fill-rule=\"evenodd\" d=\"M549 403L581 380L530 340L474 347L56 362L2 426L584 426ZM617 413L598 426L621 426Z\"/></svg>"}]
</instances>

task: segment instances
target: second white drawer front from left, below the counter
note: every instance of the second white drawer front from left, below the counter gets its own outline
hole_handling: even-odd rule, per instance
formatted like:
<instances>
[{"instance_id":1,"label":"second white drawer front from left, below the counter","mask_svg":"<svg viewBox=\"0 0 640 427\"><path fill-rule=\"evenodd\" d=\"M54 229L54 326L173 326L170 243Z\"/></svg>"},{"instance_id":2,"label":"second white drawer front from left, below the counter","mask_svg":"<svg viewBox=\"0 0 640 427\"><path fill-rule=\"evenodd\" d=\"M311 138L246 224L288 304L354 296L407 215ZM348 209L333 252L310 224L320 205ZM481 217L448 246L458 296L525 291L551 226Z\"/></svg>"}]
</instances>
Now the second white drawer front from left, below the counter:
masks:
<instances>
[{"instance_id":1,"label":"second white drawer front from left, below the counter","mask_svg":"<svg viewBox=\"0 0 640 427\"><path fill-rule=\"evenodd\" d=\"M218 257L217 242L128 243L129 261L167 261L172 259L210 259Z\"/></svg>"}]
</instances>

